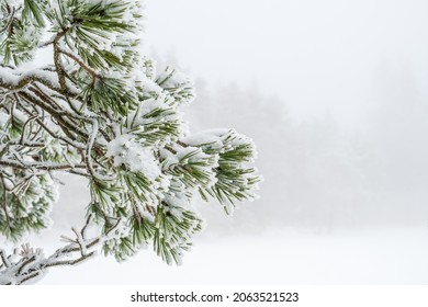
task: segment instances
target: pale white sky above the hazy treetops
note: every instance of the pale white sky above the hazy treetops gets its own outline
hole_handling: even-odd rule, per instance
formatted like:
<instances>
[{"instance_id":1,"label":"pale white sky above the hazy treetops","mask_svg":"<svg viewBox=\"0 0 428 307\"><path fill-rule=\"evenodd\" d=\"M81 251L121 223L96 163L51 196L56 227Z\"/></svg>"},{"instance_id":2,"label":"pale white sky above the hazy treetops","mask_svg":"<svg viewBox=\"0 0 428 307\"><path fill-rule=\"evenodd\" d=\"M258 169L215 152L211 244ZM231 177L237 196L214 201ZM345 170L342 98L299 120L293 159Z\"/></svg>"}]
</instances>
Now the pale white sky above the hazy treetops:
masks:
<instances>
[{"instance_id":1,"label":"pale white sky above the hazy treetops","mask_svg":"<svg viewBox=\"0 0 428 307\"><path fill-rule=\"evenodd\" d=\"M428 1L147 0L147 49L210 84L257 84L294 115L361 125L385 75L426 94ZM198 89L196 89L198 90ZM385 90L385 89L383 89Z\"/></svg>"}]
</instances>

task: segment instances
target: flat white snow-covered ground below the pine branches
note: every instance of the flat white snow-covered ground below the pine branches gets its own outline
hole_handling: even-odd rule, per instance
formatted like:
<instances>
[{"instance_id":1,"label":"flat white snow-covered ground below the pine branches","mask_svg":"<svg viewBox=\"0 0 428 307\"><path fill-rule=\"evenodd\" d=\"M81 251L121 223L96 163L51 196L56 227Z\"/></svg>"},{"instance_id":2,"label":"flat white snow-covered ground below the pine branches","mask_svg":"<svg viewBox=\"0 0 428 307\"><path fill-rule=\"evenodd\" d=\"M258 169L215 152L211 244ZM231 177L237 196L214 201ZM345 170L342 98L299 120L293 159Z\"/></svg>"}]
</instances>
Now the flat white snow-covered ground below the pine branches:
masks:
<instances>
[{"instance_id":1,"label":"flat white snow-covered ground below the pine branches","mask_svg":"<svg viewBox=\"0 0 428 307\"><path fill-rule=\"evenodd\" d=\"M202 238L200 238L202 239ZM151 250L52 270L41 284L427 284L428 229L295 229L196 241L182 266Z\"/></svg>"}]
</instances>

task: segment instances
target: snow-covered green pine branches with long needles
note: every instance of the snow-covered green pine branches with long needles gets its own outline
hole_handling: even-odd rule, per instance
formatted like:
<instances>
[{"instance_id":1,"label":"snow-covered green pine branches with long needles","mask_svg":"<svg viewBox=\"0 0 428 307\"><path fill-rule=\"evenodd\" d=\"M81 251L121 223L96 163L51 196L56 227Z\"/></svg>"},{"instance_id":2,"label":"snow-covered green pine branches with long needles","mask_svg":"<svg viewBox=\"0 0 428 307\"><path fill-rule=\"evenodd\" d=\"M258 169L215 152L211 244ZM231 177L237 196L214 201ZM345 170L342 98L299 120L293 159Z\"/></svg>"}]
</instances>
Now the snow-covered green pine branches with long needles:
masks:
<instances>
[{"instance_id":1,"label":"snow-covered green pine branches with long needles","mask_svg":"<svg viewBox=\"0 0 428 307\"><path fill-rule=\"evenodd\" d=\"M57 172L87 179L91 196L86 225L54 254L0 250L0 284L98 250L123 261L150 246L180 263L203 224L195 198L230 214L255 197L254 144L234 129L189 133L192 82L140 54L142 12L138 0L0 0L0 234L16 242L52 224Z\"/></svg>"}]
</instances>

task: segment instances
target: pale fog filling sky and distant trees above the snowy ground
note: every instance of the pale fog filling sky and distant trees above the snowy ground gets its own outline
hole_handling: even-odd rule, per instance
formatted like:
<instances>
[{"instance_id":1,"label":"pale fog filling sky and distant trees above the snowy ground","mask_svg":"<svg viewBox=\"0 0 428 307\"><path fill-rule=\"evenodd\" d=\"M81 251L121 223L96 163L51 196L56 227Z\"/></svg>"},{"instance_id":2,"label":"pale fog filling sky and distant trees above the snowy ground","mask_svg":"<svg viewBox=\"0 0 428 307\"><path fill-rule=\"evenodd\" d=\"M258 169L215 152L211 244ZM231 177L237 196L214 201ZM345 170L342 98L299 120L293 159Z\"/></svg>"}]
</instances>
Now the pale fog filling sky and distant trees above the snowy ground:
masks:
<instances>
[{"instance_id":1,"label":"pale fog filling sky and distant trees above the snowy ground","mask_svg":"<svg viewBox=\"0 0 428 307\"><path fill-rule=\"evenodd\" d=\"M147 1L193 130L252 137L260 200L210 227L428 226L426 1ZM214 224L214 225L213 225ZM210 229L210 228L209 228Z\"/></svg>"}]
</instances>

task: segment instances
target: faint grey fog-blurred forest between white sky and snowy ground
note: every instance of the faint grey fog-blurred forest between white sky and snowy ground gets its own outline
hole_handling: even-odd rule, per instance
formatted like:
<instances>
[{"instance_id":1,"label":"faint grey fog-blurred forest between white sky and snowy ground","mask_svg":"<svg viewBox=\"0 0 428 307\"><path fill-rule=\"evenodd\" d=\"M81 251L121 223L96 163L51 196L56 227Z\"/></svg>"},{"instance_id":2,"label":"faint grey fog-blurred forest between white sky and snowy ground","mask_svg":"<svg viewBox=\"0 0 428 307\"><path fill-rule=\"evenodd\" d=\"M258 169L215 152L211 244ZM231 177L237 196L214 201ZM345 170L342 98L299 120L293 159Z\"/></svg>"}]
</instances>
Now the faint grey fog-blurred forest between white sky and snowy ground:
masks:
<instances>
[{"instance_id":1,"label":"faint grey fog-blurred forest between white sky and snowy ground","mask_svg":"<svg viewBox=\"0 0 428 307\"><path fill-rule=\"evenodd\" d=\"M328 110L294 120L286 101L257 86L198 80L185 110L191 129L234 127L250 136L264 178L260 200L241 204L233 218L202 204L209 231L428 226L427 99L406 69L382 67L374 80L372 112L354 129Z\"/></svg>"}]
</instances>

